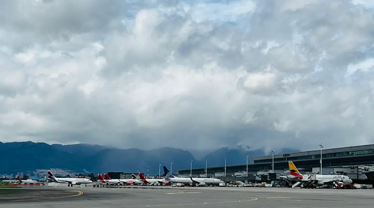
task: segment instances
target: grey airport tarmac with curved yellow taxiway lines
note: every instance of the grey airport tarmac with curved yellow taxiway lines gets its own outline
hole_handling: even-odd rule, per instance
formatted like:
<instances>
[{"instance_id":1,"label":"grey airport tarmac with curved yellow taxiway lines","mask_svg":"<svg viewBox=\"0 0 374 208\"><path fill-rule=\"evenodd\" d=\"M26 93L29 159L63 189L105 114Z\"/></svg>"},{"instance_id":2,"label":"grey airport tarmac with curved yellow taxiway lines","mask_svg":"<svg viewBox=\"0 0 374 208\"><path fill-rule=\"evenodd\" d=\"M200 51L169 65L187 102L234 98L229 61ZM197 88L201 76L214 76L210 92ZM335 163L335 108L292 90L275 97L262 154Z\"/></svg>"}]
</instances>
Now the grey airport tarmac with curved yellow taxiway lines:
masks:
<instances>
[{"instance_id":1,"label":"grey airport tarmac with curved yellow taxiway lines","mask_svg":"<svg viewBox=\"0 0 374 208\"><path fill-rule=\"evenodd\" d=\"M15 190L15 189L12 189ZM93 188L46 187L3 192L1 208L373 208L374 190L247 187ZM3 189L0 189L0 192ZM4 194L5 193L5 194ZM38 193L42 193L38 196ZM12 199L1 199L9 197ZM34 195L34 199L31 196ZM53 198L52 198L53 197Z\"/></svg>"}]
</instances>

